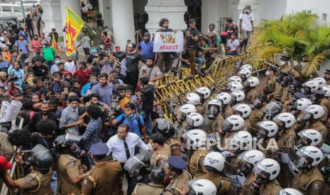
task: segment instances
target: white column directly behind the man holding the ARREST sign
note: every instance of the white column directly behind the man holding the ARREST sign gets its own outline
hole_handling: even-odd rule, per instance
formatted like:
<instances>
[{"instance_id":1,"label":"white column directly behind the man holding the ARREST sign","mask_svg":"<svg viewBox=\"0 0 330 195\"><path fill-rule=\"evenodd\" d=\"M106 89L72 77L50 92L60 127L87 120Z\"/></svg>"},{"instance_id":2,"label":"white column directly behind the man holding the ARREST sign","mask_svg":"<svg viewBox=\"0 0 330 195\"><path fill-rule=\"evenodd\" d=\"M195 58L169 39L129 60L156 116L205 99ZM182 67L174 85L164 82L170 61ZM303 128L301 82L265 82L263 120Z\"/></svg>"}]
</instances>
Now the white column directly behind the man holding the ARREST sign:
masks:
<instances>
[{"instance_id":1,"label":"white column directly behind the man holding the ARREST sign","mask_svg":"<svg viewBox=\"0 0 330 195\"><path fill-rule=\"evenodd\" d=\"M158 23L161 18L167 18L170 21L169 28L173 30L184 30L187 28L184 18L187 12L185 0L148 0L145 12L148 13L149 18L145 28L149 32L155 32L160 28Z\"/></svg>"}]
</instances>

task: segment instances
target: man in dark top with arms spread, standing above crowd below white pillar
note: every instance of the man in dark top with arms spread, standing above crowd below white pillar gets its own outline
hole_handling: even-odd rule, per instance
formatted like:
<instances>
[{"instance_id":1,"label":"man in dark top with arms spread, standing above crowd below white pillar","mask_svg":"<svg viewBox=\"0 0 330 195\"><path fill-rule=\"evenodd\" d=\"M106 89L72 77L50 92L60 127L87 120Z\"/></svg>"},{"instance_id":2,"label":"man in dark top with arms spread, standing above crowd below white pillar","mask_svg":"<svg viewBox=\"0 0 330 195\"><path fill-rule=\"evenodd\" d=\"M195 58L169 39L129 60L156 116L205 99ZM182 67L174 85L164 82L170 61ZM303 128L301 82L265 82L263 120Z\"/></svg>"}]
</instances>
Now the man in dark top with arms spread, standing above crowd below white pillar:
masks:
<instances>
[{"instance_id":1,"label":"man in dark top with arms spread, standing above crowd below white pillar","mask_svg":"<svg viewBox=\"0 0 330 195\"><path fill-rule=\"evenodd\" d=\"M141 60L145 62L141 54L139 54L136 51L136 45L133 43L130 43L127 45L127 52L124 53L121 56L117 56L114 54L117 58L123 58L126 59L126 79L128 85L133 85L134 88L136 88L136 85L138 84L138 61Z\"/></svg>"}]
</instances>

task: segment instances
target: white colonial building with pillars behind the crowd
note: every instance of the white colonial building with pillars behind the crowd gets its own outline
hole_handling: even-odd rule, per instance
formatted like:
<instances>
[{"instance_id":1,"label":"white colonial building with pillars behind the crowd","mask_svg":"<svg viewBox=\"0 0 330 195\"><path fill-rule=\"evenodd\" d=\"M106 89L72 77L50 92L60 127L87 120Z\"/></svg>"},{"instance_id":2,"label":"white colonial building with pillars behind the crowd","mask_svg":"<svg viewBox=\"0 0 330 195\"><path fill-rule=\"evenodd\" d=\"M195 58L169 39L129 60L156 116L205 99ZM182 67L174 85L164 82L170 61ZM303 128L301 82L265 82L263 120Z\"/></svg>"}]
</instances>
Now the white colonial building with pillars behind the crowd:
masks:
<instances>
[{"instance_id":1,"label":"white colonial building with pillars behind the crowd","mask_svg":"<svg viewBox=\"0 0 330 195\"><path fill-rule=\"evenodd\" d=\"M65 8L68 6L80 15L80 1L87 0L41 0L45 22L44 32L52 28L61 31L65 26ZM157 30L160 18L170 20L170 28L187 28L189 18L196 18L197 27L205 32L209 23L216 24L221 31L224 18L238 16L246 5L251 5L255 14L255 23L270 18L280 18L285 13L307 10L319 15L320 23L330 22L329 0L89 0L99 5L104 26L114 32L116 45L123 47L126 40L134 40L136 29L145 28L150 32Z\"/></svg>"}]
</instances>

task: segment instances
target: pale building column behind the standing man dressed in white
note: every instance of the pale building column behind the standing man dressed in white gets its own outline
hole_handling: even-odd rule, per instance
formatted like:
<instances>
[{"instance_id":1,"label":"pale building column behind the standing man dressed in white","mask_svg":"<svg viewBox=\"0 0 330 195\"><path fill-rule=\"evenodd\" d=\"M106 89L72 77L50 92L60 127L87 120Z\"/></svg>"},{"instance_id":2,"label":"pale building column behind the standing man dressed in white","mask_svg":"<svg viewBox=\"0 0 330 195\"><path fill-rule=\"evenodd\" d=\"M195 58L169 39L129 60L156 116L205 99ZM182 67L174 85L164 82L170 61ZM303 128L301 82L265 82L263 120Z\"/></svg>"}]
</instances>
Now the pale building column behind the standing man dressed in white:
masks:
<instances>
[{"instance_id":1,"label":"pale building column behind the standing man dressed in white","mask_svg":"<svg viewBox=\"0 0 330 195\"><path fill-rule=\"evenodd\" d=\"M250 5L254 14L254 24L258 25L260 22L260 4L260 0L231 0L228 11L229 17L232 17L233 23L238 25L239 15L243 12L243 8Z\"/></svg>"}]
</instances>

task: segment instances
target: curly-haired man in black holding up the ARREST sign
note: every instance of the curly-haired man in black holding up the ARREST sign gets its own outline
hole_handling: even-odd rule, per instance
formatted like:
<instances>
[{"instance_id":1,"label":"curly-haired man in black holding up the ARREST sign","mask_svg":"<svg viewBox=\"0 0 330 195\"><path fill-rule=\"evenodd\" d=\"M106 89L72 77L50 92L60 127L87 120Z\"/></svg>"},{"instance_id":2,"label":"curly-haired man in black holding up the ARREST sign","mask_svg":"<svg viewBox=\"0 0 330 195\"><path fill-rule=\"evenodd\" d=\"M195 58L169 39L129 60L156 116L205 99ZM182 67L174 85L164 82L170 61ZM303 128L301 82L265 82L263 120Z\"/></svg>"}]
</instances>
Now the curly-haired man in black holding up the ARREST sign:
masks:
<instances>
[{"instance_id":1,"label":"curly-haired man in black holding up the ARREST sign","mask_svg":"<svg viewBox=\"0 0 330 195\"><path fill-rule=\"evenodd\" d=\"M162 18L159 21L160 29L158 29L156 32L173 32L172 29L168 28L168 23L169 23L169 21L167 20L167 18ZM158 52L156 54L155 61L157 61L156 65L160 68L160 70L162 72L167 73L170 70L171 54L169 52ZM163 62L164 62L164 66L163 66ZM165 71L164 71L164 69L165 69Z\"/></svg>"}]
</instances>

